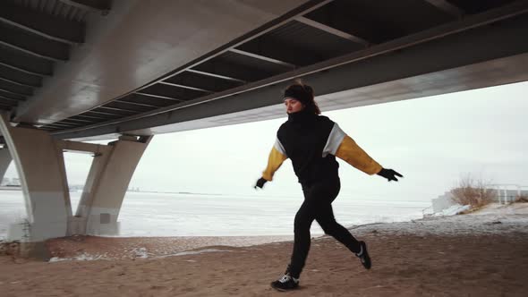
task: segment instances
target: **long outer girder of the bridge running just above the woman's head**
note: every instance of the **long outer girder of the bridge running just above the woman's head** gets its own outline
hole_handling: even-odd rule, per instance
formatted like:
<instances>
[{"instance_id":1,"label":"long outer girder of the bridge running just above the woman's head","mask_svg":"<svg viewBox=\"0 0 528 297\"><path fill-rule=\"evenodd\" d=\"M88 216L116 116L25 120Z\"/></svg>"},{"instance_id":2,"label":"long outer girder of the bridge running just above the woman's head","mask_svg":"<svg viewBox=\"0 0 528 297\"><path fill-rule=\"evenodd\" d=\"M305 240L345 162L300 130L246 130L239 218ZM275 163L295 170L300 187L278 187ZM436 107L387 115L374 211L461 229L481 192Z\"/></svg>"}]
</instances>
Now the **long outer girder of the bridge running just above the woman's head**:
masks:
<instances>
[{"instance_id":1,"label":"long outer girder of the bridge running just above the woman's head","mask_svg":"<svg viewBox=\"0 0 528 297\"><path fill-rule=\"evenodd\" d=\"M528 40L520 37L528 33L528 14L510 17L512 12L507 10L498 8L369 44L152 112L52 134L57 138L109 137L123 132L149 135L277 118L284 116L282 90L294 78L314 87L324 111L526 81ZM298 53L303 55L302 50Z\"/></svg>"}]
</instances>

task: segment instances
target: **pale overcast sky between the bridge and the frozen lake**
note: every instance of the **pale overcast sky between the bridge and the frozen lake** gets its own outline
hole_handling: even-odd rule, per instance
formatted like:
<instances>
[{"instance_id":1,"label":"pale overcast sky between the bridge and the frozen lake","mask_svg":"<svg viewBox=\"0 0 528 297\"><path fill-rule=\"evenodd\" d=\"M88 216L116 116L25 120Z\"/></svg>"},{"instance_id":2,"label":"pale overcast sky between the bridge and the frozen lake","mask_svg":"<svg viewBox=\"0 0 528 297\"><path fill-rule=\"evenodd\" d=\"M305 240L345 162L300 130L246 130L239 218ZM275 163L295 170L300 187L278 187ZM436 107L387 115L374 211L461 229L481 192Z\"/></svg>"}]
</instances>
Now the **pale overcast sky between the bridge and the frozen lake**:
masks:
<instances>
[{"instance_id":1,"label":"pale overcast sky between the bridge and the frozen lake","mask_svg":"<svg viewBox=\"0 0 528 297\"><path fill-rule=\"evenodd\" d=\"M325 112L379 164L405 178L386 182L340 161L340 197L430 200L464 174L528 186L528 83ZM300 197L290 161L264 191L254 182L283 118L156 135L131 187L145 191ZM89 155L67 153L70 184L84 183ZM6 174L16 176L12 164Z\"/></svg>"}]
</instances>

